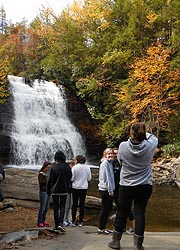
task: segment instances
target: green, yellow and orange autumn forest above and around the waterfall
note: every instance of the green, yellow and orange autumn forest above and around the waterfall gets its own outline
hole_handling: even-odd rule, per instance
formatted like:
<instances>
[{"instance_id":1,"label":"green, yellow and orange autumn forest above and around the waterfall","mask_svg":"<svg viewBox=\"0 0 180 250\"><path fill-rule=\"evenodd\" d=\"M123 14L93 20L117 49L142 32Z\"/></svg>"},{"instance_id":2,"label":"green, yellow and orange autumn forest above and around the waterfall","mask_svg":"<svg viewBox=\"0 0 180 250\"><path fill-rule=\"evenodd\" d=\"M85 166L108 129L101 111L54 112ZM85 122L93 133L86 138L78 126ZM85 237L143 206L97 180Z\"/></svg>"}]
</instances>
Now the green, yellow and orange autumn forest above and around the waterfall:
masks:
<instances>
[{"instance_id":1,"label":"green, yellow and orange autumn forest above and around the waterfall","mask_svg":"<svg viewBox=\"0 0 180 250\"><path fill-rule=\"evenodd\" d=\"M8 74L70 88L108 146L145 121L160 143L180 139L180 1L75 1L11 23L0 6L0 103Z\"/></svg>"}]
</instances>

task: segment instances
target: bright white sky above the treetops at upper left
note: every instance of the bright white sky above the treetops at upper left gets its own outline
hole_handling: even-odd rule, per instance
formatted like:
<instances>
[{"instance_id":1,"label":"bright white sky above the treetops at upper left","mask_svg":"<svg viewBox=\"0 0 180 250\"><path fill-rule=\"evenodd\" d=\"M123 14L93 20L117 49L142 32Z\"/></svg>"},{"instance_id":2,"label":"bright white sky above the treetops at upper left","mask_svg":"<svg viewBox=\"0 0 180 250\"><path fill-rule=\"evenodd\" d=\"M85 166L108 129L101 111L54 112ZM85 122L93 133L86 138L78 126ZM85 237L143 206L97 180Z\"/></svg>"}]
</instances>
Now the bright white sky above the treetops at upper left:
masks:
<instances>
[{"instance_id":1,"label":"bright white sky above the treetops at upper left","mask_svg":"<svg viewBox=\"0 0 180 250\"><path fill-rule=\"evenodd\" d=\"M21 22L23 18L31 22L44 7L51 7L56 15L63 8L71 5L74 0L0 0L0 7L4 7L6 19L12 23Z\"/></svg>"}]
</instances>

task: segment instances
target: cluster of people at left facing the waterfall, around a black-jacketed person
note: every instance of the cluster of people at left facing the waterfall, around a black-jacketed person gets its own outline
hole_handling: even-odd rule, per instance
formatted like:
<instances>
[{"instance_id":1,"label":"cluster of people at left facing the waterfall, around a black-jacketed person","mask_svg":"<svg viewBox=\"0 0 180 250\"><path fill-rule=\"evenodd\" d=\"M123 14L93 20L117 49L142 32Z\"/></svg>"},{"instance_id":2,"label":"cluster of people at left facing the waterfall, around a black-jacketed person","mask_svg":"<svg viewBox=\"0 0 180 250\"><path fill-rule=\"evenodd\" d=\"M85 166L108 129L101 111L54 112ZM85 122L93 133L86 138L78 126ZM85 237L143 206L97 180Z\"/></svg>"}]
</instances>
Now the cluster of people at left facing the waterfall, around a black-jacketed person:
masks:
<instances>
[{"instance_id":1,"label":"cluster of people at left facing the waterfall, around a black-jacketed person","mask_svg":"<svg viewBox=\"0 0 180 250\"><path fill-rule=\"evenodd\" d=\"M85 198L91 170L85 164L86 158L77 155L75 161L66 162L65 154L57 151L54 162L44 162L38 174L40 208L37 226L48 226L46 214L52 196L54 211L54 231L65 232L65 226L76 226L76 213L79 206L79 226L83 226ZM69 221L72 209L72 222Z\"/></svg>"}]
</instances>

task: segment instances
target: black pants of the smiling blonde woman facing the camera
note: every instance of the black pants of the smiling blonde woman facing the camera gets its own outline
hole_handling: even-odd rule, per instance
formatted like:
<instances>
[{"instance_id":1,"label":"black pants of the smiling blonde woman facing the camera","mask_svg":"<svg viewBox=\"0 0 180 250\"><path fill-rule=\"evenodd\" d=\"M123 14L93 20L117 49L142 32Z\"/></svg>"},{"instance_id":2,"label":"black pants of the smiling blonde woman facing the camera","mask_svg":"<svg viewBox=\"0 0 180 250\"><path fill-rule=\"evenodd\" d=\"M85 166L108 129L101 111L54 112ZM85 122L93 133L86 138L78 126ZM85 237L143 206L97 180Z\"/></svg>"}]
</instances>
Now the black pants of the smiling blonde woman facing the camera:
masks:
<instances>
[{"instance_id":1,"label":"black pants of the smiling blonde woman facing the camera","mask_svg":"<svg viewBox=\"0 0 180 250\"><path fill-rule=\"evenodd\" d=\"M101 212L99 215L99 229L106 228L106 223L113 205L113 197L109 195L108 191L99 190L101 195Z\"/></svg>"}]
</instances>

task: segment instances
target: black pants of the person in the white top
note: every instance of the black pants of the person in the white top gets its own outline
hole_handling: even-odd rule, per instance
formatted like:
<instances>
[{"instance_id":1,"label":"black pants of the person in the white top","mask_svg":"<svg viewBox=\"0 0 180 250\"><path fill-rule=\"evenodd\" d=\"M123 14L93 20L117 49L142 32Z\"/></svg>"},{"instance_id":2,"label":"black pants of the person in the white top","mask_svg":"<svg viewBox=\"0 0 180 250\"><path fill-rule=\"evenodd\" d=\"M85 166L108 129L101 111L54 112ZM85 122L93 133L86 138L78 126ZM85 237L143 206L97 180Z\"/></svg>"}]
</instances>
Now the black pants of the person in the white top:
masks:
<instances>
[{"instance_id":1,"label":"black pants of the person in the white top","mask_svg":"<svg viewBox=\"0 0 180 250\"><path fill-rule=\"evenodd\" d=\"M76 221L76 212L79 205L79 222L83 222L84 207L87 189L72 189L73 205L72 205L72 223Z\"/></svg>"}]
</instances>

